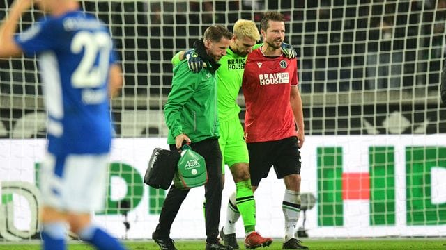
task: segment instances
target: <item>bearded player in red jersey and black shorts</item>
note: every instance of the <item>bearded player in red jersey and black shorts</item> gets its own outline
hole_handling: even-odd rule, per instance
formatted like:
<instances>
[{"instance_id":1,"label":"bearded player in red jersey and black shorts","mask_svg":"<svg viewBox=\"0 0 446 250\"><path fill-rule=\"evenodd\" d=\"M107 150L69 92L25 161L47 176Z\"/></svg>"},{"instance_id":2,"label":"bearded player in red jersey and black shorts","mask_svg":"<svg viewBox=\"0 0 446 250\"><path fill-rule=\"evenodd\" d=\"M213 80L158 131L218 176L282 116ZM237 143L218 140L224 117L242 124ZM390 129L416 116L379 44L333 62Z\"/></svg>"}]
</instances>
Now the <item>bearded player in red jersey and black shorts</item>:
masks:
<instances>
[{"instance_id":1,"label":"bearded player in red jersey and black shorts","mask_svg":"<svg viewBox=\"0 0 446 250\"><path fill-rule=\"evenodd\" d=\"M280 50L285 38L282 14L266 12L261 35L263 46L249 53L242 83L252 188L256 190L274 165L277 178L283 178L286 186L282 249L308 249L295 238L300 213L300 147L304 142L297 60L286 58Z\"/></svg>"}]
</instances>

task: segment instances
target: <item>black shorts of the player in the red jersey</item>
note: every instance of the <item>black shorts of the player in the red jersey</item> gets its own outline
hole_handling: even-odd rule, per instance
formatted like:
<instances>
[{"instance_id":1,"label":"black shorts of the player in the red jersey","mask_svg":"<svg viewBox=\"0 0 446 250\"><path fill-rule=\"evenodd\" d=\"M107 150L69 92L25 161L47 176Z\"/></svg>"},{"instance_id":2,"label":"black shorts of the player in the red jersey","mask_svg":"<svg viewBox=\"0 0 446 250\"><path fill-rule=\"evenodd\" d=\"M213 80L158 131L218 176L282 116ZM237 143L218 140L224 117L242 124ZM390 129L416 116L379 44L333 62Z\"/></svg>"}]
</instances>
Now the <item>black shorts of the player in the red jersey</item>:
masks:
<instances>
[{"instance_id":1,"label":"black shorts of the player in the red jersey","mask_svg":"<svg viewBox=\"0 0 446 250\"><path fill-rule=\"evenodd\" d=\"M300 174L300 149L298 138L293 136L270 142L247 143L251 185L258 186L274 166L277 178Z\"/></svg>"}]
</instances>

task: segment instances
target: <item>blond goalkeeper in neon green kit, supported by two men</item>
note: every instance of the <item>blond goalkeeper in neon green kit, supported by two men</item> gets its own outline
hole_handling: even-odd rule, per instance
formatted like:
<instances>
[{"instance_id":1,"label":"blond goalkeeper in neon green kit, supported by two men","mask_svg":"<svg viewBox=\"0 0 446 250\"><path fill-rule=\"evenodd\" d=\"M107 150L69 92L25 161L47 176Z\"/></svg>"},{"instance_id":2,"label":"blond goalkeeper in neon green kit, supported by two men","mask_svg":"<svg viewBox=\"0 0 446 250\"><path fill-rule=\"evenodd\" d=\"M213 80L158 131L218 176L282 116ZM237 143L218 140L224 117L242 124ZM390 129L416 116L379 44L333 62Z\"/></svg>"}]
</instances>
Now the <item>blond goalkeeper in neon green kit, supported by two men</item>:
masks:
<instances>
[{"instance_id":1,"label":"blond goalkeeper in neon green kit, supported by two men","mask_svg":"<svg viewBox=\"0 0 446 250\"><path fill-rule=\"evenodd\" d=\"M245 19L238 20L233 27L233 38L229 49L220 60L221 67L216 72L220 120L219 144L223 156L222 173L224 174L224 165L227 164L236 183L236 192L229 197L228 216L225 226L220 231L220 238L224 244L234 249L240 249L235 228L240 215L245 225L246 248L266 247L272 243L272 238L263 238L255 231L256 205L249 175L249 154L243 138L243 127L238 118L240 107L237 104L246 58L254 48L261 46L261 44L256 45L258 40L260 34L256 24ZM295 57L295 51L289 44L283 44L282 51L288 57ZM177 53L172 58L172 63L177 65L184 57L188 59L193 72L199 72L203 67L203 62L193 50Z\"/></svg>"}]
</instances>

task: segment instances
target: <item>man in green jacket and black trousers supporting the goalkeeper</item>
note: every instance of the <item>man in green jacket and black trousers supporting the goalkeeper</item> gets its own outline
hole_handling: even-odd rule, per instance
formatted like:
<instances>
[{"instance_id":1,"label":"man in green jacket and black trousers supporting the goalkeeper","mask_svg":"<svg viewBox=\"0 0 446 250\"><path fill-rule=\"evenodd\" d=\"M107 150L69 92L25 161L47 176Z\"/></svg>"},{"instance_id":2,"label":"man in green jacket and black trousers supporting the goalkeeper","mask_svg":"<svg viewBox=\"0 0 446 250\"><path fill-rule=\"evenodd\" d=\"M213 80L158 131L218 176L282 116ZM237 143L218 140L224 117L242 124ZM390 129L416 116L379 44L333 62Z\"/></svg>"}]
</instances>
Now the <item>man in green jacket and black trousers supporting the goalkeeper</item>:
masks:
<instances>
[{"instance_id":1,"label":"man in green jacket and black trousers supporting the goalkeeper","mask_svg":"<svg viewBox=\"0 0 446 250\"><path fill-rule=\"evenodd\" d=\"M164 106L169 128L167 143L171 150L180 150L184 142L189 142L192 149L206 160L206 250L232 249L218 240L223 187L215 80L215 71L220 66L217 62L226 54L231 38L231 32L223 26L206 29L203 40L194 42L192 56L199 56L208 67L198 74L190 71L186 60L174 67L171 92ZM169 237L170 229L188 192L171 185L167 193L159 223L152 235L160 249L176 249L174 240Z\"/></svg>"}]
</instances>

